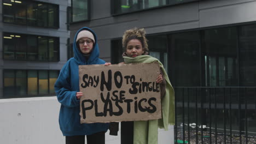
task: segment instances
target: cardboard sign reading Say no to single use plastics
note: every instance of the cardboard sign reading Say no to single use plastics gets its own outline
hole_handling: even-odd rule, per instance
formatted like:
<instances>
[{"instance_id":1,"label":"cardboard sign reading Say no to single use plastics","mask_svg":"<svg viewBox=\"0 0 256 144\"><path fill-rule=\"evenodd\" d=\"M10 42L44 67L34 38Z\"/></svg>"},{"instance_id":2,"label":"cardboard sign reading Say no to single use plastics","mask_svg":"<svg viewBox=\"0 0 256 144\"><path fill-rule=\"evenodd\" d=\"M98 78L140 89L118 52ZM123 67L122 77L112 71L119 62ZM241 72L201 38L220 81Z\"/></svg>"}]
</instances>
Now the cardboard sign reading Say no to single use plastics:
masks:
<instances>
[{"instance_id":1,"label":"cardboard sign reading Say no to single use plastics","mask_svg":"<svg viewBox=\"0 0 256 144\"><path fill-rule=\"evenodd\" d=\"M79 65L81 123L161 118L159 64Z\"/></svg>"}]
</instances>

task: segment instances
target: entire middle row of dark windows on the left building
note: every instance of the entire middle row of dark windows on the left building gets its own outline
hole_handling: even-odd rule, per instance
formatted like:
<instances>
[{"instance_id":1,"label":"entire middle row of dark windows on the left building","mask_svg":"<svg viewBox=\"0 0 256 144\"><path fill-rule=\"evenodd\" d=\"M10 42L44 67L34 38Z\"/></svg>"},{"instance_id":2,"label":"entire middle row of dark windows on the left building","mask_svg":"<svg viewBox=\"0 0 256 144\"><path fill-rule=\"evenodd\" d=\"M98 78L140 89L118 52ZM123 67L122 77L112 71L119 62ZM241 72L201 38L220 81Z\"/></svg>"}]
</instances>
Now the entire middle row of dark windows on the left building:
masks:
<instances>
[{"instance_id":1,"label":"entire middle row of dark windows on the left building","mask_svg":"<svg viewBox=\"0 0 256 144\"><path fill-rule=\"evenodd\" d=\"M55 37L3 33L4 59L57 62L59 43Z\"/></svg>"}]
</instances>

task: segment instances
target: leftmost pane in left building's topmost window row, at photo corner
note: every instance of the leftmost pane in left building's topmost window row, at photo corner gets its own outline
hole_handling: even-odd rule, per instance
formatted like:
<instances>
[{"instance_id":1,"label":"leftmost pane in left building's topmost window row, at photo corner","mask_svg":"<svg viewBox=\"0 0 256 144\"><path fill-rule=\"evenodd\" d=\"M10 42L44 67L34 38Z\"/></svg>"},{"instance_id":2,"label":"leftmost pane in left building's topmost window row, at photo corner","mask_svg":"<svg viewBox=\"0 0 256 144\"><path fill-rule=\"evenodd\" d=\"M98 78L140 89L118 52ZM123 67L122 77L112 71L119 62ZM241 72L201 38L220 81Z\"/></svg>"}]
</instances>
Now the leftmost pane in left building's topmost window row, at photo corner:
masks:
<instances>
[{"instance_id":1,"label":"leftmost pane in left building's topmost window row, at photo corner","mask_svg":"<svg viewBox=\"0 0 256 144\"><path fill-rule=\"evenodd\" d=\"M3 22L14 22L14 2L3 0Z\"/></svg>"}]
</instances>

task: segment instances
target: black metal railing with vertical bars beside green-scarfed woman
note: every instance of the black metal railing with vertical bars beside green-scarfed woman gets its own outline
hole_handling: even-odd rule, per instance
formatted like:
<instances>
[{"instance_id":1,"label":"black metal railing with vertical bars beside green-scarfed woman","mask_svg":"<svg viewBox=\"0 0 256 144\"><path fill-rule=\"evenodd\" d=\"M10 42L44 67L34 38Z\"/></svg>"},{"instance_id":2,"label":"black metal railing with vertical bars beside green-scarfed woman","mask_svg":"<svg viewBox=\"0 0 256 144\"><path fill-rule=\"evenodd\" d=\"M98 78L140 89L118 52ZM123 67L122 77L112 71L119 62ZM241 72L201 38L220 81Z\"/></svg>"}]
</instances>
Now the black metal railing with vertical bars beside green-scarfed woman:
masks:
<instances>
[{"instance_id":1,"label":"black metal railing with vertical bars beside green-scarfed woman","mask_svg":"<svg viewBox=\"0 0 256 144\"><path fill-rule=\"evenodd\" d=\"M175 143L256 143L256 87L174 87Z\"/></svg>"}]
</instances>

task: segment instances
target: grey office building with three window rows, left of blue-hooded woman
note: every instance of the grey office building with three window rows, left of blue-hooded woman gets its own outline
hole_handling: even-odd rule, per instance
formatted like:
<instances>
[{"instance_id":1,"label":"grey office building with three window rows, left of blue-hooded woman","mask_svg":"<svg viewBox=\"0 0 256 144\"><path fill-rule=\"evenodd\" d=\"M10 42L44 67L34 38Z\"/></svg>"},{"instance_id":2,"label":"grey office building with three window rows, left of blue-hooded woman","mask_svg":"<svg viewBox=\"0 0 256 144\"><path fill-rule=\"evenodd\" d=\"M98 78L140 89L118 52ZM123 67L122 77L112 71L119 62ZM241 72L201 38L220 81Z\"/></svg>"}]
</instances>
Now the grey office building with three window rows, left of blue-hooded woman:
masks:
<instances>
[{"instance_id":1,"label":"grey office building with three window rows, left of blue-hooded woman","mask_svg":"<svg viewBox=\"0 0 256 144\"><path fill-rule=\"evenodd\" d=\"M67 61L70 1L0 2L0 99L55 95Z\"/></svg>"}]
</instances>

